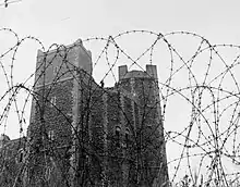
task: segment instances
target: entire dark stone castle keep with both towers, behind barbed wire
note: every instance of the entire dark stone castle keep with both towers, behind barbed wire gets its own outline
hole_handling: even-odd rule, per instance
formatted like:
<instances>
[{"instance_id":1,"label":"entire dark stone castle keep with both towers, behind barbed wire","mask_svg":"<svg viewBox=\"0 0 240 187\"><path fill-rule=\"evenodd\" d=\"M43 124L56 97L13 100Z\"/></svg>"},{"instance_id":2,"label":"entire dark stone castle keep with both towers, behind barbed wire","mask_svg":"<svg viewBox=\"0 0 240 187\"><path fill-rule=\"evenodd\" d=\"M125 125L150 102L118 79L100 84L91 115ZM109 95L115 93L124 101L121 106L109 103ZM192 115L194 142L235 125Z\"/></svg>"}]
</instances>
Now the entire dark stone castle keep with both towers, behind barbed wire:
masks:
<instances>
[{"instance_id":1,"label":"entire dark stone castle keep with both towers, behind barbed wire","mask_svg":"<svg viewBox=\"0 0 240 187\"><path fill-rule=\"evenodd\" d=\"M168 186L156 65L95 83L81 40L38 51L26 186Z\"/></svg>"}]
</instances>

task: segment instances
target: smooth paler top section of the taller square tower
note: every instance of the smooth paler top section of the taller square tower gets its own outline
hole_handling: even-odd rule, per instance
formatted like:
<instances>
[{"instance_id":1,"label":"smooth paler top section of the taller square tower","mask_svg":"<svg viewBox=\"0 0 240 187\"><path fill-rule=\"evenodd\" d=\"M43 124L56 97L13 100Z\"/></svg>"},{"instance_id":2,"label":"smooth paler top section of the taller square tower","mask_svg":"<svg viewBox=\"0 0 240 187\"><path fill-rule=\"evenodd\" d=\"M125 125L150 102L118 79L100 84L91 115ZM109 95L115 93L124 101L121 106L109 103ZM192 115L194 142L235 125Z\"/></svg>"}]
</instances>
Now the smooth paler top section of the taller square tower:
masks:
<instances>
[{"instance_id":1,"label":"smooth paler top section of the taller square tower","mask_svg":"<svg viewBox=\"0 0 240 187\"><path fill-rule=\"evenodd\" d=\"M93 73L92 53L81 39L69 46L59 46L46 52L37 51L35 84L36 87L73 77L76 68L88 75Z\"/></svg>"}]
</instances>

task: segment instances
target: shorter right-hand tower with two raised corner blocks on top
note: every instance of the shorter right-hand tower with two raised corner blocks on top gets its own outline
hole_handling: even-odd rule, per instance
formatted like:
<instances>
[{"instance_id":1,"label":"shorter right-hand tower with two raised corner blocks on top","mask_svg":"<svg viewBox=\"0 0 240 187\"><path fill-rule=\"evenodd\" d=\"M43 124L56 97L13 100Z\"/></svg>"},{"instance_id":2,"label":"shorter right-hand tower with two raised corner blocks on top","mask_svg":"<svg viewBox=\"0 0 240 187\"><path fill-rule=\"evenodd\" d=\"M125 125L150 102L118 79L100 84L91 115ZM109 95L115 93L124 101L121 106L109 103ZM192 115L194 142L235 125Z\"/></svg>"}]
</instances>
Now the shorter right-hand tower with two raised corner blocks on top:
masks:
<instances>
[{"instance_id":1,"label":"shorter right-hand tower with two raised corner blocks on top","mask_svg":"<svg viewBox=\"0 0 240 187\"><path fill-rule=\"evenodd\" d=\"M133 122L128 125L136 137L136 167L143 171L136 178L140 186L168 186L157 68L148 64L145 70L129 72L127 65L120 66L118 86L133 98Z\"/></svg>"}]
</instances>

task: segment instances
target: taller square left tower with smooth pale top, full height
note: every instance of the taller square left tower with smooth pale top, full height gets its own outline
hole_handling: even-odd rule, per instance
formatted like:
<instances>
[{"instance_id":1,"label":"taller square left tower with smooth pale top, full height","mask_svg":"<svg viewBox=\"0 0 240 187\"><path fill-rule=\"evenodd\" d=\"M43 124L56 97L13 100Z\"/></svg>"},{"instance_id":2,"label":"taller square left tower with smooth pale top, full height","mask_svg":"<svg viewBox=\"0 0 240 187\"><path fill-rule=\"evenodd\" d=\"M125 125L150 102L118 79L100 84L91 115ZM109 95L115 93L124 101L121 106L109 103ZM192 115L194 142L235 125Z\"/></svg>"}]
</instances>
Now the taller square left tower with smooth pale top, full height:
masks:
<instances>
[{"instance_id":1,"label":"taller square left tower with smooth pale top, full height","mask_svg":"<svg viewBox=\"0 0 240 187\"><path fill-rule=\"evenodd\" d=\"M91 55L81 40L47 52L38 50L27 130L28 186L72 184L73 132L80 117L81 86L92 75Z\"/></svg>"}]
</instances>

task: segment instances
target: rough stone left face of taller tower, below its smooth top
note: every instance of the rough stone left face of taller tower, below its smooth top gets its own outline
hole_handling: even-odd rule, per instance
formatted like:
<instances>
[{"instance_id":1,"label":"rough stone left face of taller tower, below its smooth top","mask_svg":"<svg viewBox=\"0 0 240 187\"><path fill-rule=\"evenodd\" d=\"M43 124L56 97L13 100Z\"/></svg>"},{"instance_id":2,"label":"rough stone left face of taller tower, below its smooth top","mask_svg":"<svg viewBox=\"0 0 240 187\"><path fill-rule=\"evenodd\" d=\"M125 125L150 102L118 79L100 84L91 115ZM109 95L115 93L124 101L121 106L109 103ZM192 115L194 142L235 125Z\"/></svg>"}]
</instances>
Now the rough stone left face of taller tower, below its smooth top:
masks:
<instances>
[{"instance_id":1,"label":"rough stone left face of taller tower, below its smooth top","mask_svg":"<svg viewBox=\"0 0 240 187\"><path fill-rule=\"evenodd\" d=\"M34 123L28 129L29 185L49 184L49 170L51 173L61 171L58 172L57 184L67 183L62 175L68 175L70 166L72 88L72 80L65 80L36 90L38 104L35 105Z\"/></svg>"}]
</instances>

